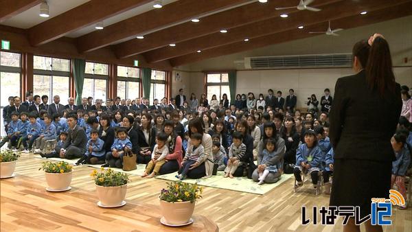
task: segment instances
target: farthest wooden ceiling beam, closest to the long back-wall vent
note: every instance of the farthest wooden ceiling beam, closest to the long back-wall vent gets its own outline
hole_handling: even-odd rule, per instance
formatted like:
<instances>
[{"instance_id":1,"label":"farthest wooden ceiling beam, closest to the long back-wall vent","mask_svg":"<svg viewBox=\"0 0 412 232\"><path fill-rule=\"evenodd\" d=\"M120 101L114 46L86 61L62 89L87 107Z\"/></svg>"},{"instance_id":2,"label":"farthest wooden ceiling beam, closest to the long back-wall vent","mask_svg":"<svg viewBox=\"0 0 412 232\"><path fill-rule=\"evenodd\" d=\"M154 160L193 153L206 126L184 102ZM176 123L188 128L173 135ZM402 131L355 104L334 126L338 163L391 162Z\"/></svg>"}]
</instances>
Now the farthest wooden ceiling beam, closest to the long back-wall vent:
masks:
<instances>
[{"instance_id":1,"label":"farthest wooden ceiling beam, closest to the long back-wall vent","mask_svg":"<svg viewBox=\"0 0 412 232\"><path fill-rule=\"evenodd\" d=\"M407 3L403 3L400 5L394 5L389 8L384 8L381 10L376 10L372 12L367 12L366 15L358 15L358 16L348 16L341 19L336 19L332 21L332 25L334 28L345 28L350 29L353 27L360 27L363 25L369 25L373 23L379 23L382 21L388 21L391 19L401 18L403 16L410 16L412 15L412 2L409 1ZM261 36L258 38L253 38L249 40L248 43L236 42L231 43L229 45L224 45L221 47L215 47L213 49L207 49L202 51L201 53L196 53L196 51L192 54L188 54L185 56L179 56L176 58L170 59L170 64L173 67L187 65L192 62L197 62L201 60L206 60L209 58L214 58L218 56L226 56L229 54L235 54L242 51L249 51L252 49L258 49L260 47L267 47L269 45L275 45L279 43L286 43L292 40L298 40L301 38L308 38L312 36L317 36L318 34L309 34L308 32L321 32L324 31L325 28L328 27L328 22L325 21L323 23L317 23L314 25L310 25L305 27L304 30L288 30L286 32L279 32L275 34L270 34L266 36ZM368 38L369 35L365 34L365 39Z\"/></svg>"}]
</instances>

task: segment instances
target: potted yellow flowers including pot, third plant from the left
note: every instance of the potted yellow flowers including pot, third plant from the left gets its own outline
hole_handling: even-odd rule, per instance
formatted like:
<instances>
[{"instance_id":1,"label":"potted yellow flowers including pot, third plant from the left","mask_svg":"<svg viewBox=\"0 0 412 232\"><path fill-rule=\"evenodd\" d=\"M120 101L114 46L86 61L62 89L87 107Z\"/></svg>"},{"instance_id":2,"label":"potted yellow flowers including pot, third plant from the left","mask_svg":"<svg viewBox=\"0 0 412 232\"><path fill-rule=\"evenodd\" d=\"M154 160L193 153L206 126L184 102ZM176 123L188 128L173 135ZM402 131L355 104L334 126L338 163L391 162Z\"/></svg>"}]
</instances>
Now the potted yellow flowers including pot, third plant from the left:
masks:
<instances>
[{"instance_id":1,"label":"potted yellow flowers including pot, third plant from the left","mask_svg":"<svg viewBox=\"0 0 412 232\"><path fill-rule=\"evenodd\" d=\"M126 205L127 183L130 181L129 174L113 172L110 168L100 172L93 170L91 173L96 185L98 194L98 206L112 208Z\"/></svg>"}]
</instances>

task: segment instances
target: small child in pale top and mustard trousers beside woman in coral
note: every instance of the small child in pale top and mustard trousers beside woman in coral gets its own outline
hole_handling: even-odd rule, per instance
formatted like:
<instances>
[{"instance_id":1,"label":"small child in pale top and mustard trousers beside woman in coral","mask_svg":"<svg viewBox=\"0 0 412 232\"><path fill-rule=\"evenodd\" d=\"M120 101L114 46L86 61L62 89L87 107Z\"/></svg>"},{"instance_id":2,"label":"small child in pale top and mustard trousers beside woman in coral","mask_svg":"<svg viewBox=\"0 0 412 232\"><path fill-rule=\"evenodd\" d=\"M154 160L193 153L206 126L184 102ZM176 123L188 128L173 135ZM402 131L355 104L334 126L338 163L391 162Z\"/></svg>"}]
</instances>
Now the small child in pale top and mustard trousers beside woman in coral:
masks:
<instances>
[{"instance_id":1,"label":"small child in pale top and mustard trousers beside woman in coral","mask_svg":"<svg viewBox=\"0 0 412 232\"><path fill-rule=\"evenodd\" d=\"M157 143L155 148L153 148L152 159L146 166L146 170L141 177L152 178L155 177L161 168L161 165L166 163L166 156L169 154L169 148L166 146L166 141L168 141L168 135L165 133L160 133L156 135ZM155 159L155 155L158 154L159 158ZM150 173L152 172L152 173ZM150 174L150 175L149 175Z\"/></svg>"}]
</instances>

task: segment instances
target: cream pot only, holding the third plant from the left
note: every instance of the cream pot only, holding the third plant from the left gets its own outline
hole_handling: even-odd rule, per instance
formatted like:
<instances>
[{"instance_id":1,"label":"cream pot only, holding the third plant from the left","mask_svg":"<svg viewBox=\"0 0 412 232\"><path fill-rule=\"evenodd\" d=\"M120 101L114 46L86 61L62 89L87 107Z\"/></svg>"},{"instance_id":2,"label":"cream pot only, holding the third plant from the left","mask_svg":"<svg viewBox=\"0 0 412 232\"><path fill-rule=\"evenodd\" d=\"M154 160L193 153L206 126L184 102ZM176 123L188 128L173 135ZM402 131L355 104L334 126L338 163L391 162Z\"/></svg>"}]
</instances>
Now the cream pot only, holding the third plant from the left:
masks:
<instances>
[{"instance_id":1,"label":"cream pot only, holding the third plant from the left","mask_svg":"<svg viewBox=\"0 0 412 232\"><path fill-rule=\"evenodd\" d=\"M96 192L100 205L103 207L118 207L124 205L123 200L126 197L127 185L104 187L96 185Z\"/></svg>"}]
</instances>

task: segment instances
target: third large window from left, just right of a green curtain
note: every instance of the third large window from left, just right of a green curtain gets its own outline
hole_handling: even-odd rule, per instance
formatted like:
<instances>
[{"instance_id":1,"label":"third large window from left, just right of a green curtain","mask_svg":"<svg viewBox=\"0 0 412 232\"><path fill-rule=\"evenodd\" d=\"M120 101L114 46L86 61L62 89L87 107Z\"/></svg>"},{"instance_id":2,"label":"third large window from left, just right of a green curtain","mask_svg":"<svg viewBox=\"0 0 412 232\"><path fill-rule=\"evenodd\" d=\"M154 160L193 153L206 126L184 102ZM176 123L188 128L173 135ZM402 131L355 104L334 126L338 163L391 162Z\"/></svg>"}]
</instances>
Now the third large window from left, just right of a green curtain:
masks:
<instances>
[{"instance_id":1,"label":"third large window from left, just right of a green curtain","mask_svg":"<svg viewBox=\"0 0 412 232\"><path fill-rule=\"evenodd\" d=\"M86 62L84 71L82 97L93 97L93 100L101 99L106 101L108 65Z\"/></svg>"}]
</instances>

